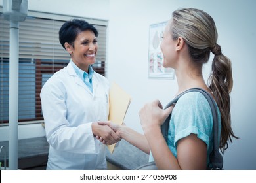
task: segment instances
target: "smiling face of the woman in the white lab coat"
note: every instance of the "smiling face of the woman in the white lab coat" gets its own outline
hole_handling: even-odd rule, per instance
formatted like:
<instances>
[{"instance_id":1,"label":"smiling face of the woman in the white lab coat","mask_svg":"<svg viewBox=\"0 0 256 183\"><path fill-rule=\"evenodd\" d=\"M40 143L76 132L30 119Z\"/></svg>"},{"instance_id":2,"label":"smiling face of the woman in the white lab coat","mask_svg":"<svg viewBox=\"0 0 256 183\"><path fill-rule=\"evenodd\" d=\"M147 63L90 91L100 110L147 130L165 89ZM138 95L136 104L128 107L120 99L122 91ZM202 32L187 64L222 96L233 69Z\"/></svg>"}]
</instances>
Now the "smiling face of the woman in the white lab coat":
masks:
<instances>
[{"instance_id":1,"label":"smiling face of the woman in the white lab coat","mask_svg":"<svg viewBox=\"0 0 256 183\"><path fill-rule=\"evenodd\" d=\"M95 33L91 30L81 31L77 34L72 45L66 42L65 46L75 65L88 73L89 65L95 63L95 56L98 50L98 41Z\"/></svg>"}]
</instances>

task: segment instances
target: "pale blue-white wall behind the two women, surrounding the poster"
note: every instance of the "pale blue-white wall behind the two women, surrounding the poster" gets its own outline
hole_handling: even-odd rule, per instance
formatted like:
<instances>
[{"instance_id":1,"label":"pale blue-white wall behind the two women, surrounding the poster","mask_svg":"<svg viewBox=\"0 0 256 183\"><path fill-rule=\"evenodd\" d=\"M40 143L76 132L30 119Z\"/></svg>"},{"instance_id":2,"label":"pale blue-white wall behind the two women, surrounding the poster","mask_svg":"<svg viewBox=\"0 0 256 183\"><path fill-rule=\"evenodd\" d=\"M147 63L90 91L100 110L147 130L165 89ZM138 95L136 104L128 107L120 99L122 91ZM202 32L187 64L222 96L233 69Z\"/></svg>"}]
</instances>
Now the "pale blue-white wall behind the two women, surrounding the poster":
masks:
<instances>
[{"instance_id":1,"label":"pale blue-white wall behind the two women, surrounding the poster","mask_svg":"<svg viewBox=\"0 0 256 183\"><path fill-rule=\"evenodd\" d=\"M109 20L107 77L133 98L125 123L140 132L138 111L144 103L160 99L165 105L177 91L176 80L148 78L149 25L169 20L180 7L208 12L217 25L223 53L232 60L234 75L232 127L240 140L226 150L224 169L256 169L255 5L253 0L28 0L29 10ZM205 79L210 68L211 61L205 65Z\"/></svg>"}]
</instances>

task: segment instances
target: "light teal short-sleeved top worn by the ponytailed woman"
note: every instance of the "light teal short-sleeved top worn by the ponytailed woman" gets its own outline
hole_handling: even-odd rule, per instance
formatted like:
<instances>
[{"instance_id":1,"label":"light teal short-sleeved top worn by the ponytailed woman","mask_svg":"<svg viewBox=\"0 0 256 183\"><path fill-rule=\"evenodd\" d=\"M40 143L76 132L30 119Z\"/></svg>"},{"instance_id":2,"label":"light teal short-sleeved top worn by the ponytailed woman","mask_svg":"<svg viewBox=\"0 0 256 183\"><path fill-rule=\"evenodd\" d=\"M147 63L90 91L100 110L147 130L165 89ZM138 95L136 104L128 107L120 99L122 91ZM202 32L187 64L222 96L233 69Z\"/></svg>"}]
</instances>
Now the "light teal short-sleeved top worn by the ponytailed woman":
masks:
<instances>
[{"instance_id":1,"label":"light teal short-sleeved top worn by the ponytailed woman","mask_svg":"<svg viewBox=\"0 0 256 183\"><path fill-rule=\"evenodd\" d=\"M220 139L221 112L218 107L217 112ZM207 145L207 165L209 165L209 154L213 150L213 116L207 99L199 92L182 95L173 108L167 144L176 158L177 142L190 133L196 134ZM151 152L149 161L154 161Z\"/></svg>"}]
</instances>

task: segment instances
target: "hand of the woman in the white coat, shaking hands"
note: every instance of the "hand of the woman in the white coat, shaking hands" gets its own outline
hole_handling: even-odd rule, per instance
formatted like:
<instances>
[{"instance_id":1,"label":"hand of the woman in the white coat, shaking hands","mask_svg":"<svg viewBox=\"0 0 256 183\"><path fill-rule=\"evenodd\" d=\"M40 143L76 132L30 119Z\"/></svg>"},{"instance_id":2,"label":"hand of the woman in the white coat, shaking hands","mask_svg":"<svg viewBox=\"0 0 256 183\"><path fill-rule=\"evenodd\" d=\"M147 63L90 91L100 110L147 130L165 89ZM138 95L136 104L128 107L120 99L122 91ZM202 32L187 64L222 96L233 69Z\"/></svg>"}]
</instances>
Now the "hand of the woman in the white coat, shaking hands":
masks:
<instances>
[{"instance_id":1,"label":"hand of the woman in the white coat, shaking hands","mask_svg":"<svg viewBox=\"0 0 256 183\"><path fill-rule=\"evenodd\" d=\"M95 137L101 137L104 144L112 145L121 141L121 138L108 125L100 125L98 122L92 123L92 131Z\"/></svg>"}]
</instances>

